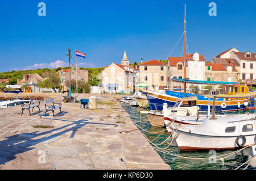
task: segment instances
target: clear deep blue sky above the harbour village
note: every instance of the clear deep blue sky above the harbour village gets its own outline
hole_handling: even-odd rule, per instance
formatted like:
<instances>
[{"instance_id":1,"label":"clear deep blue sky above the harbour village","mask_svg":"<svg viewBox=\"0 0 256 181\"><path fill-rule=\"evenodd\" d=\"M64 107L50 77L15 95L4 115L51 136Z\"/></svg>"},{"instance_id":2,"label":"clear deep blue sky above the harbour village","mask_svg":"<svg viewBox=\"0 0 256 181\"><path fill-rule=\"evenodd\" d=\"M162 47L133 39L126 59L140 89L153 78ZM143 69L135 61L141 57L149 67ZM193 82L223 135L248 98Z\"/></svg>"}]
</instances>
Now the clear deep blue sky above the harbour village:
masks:
<instances>
[{"instance_id":1,"label":"clear deep blue sky above the harbour village","mask_svg":"<svg viewBox=\"0 0 256 181\"><path fill-rule=\"evenodd\" d=\"M39 2L46 3L45 17L38 16ZM217 16L208 15L210 2ZM130 62L166 59L184 31L184 3L188 53L210 61L234 45L256 52L256 1L9 0L0 2L0 71L68 62L75 47L88 67L121 63L125 49ZM182 56L182 41L171 56Z\"/></svg>"}]
</instances>

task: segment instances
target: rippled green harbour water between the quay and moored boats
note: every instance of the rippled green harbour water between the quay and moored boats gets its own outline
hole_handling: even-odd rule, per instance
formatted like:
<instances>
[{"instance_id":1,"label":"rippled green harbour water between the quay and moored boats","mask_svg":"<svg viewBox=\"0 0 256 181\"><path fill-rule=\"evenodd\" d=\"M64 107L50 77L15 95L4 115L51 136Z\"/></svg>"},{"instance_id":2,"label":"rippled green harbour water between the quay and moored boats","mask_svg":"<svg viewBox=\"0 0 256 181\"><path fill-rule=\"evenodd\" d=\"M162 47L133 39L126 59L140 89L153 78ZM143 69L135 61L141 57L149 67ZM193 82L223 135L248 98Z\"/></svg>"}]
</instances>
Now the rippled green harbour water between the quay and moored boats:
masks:
<instances>
[{"instance_id":1,"label":"rippled green harbour water between the quay and moored boats","mask_svg":"<svg viewBox=\"0 0 256 181\"><path fill-rule=\"evenodd\" d=\"M146 115L140 115L137 111L138 107L130 107L128 104L122 103L122 107L129 113L131 120L136 122L140 127L145 129L146 131L150 132L159 132L159 131L164 131L164 128L158 128L158 127L151 127L150 123L147 121L147 116ZM250 113L255 113L255 110L250 110ZM246 113L246 111L239 111L239 112L229 112L230 114L237 114L237 113ZM134 117L139 117L134 118ZM141 117L141 118L140 118ZM156 134L151 134L147 133L145 131L141 132L144 133L149 140L154 140L157 136L159 136L159 133ZM154 144L160 144L164 140L166 140L170 136L170 134L165 131L163 132L158 138L156 138ZM159 146L160 148L166 148L171 142L171 138L166 141L163 145ZM177 144L174 140L172 142L172 145L170 148L166 149L167 151L181 155L183 157L193 157L193 158L205 158L205 157L210 157L212 154L209 154L209 151L180 151L179 148L177 147ZM217 150L217 156L218 155L224 155L231 153L235 150ZM225 169L225 170L232 170L236 169L238 166L242 165L242 163L245 163L248 160L249 157L249 148L246 148L242 151L240 151L237 154L232 155L229 158L226 158L224 160L224 166L222 166L221 161L217 161L217 163L209 163L208 159L204 160L192 160L192 159L184 159L184 158L179 158L179 157L173 157L171 155L162 153L158 151L160 157L171 166L172 169L174 170L179 170L179 169L193 169L193 170L199 170L199 169ZM244 169L247 166L247 163L242 166L240 169ZM255 169L254 167L247 167L247 169Z\"/></svg>"}]
</instances>

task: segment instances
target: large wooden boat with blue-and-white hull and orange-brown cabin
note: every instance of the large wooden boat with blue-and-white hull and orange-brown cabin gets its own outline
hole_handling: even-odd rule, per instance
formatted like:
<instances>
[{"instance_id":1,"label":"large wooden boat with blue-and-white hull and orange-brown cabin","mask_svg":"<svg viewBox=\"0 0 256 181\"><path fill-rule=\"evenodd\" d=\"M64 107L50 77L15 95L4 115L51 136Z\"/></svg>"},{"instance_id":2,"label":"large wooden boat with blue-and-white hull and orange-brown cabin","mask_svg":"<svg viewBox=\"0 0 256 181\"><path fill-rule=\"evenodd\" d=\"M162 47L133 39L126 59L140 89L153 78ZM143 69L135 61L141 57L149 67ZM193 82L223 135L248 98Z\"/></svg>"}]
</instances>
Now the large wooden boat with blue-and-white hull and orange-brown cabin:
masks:
<instances>
[{"instance_id":1,"label":"large wooden boat with blue-and-white hull and orange-brown cabin","mask_svg":"<svg viewBox=\"0 0 256 181\"><path fill-rule=\"evenodd\" d=\"M173 79L172 79L173 80ZM236 82L216 82L216 81L195 81L174 78L175 81L186 81L193 84L206 84L206 85L222 85L222 94L240 95L240 94L256 94L256 91L250 92L246 85L238 85ZM212 110L213 98L208 98L204 94L189 94L175 91L163 91L161 93L146 91L144 94L148 96L148 103L151 111L162 111L163 103L167 103L168 107L173 107L179 98L187 98L189 96L197 97L197 105L199 111L208 110L208 101L210 99L210 110ZM254 98L249 96L246 98L220 98L215 102L215 109L220 111L241 111L246 109L254 109Z\"/></svg>"}]
</instances>

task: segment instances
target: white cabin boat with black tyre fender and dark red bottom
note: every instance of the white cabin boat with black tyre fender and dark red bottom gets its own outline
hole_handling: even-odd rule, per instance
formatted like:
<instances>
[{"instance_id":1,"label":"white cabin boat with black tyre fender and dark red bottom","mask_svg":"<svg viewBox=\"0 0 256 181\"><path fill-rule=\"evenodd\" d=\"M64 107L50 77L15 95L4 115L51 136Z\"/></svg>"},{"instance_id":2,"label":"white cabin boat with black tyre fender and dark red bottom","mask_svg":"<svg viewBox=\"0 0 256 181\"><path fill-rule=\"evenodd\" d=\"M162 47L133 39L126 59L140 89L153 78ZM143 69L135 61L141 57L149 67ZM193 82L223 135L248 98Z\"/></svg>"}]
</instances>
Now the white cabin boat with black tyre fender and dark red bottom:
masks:
<instances>
[{"instance_id":1,"label":"white cabin boat with black tyre fender and dark red bottom","mask_svg":"<svg viewBox=\"0 0 256 181\"><path fill-rule=\"evenodd\" d=\"M202 125L169 125L180 150L235 149L256 144L255 115L204 119ZM169 129L169 131L170 131Z\"/></svg>"}]
</instances>

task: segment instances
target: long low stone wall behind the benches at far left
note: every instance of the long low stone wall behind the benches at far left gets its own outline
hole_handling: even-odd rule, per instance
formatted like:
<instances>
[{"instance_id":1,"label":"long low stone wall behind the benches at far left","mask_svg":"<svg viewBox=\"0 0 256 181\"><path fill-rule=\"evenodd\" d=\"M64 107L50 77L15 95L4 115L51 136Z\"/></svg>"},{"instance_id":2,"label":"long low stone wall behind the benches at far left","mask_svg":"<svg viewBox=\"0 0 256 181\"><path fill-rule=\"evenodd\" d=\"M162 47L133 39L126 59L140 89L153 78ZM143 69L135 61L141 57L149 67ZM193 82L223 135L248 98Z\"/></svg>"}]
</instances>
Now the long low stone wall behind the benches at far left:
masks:
<instances>
[{"instance_id":1,"label":"long low stone wall behind the benches at far left","mask_svg":"<svg viewBox=\"0 0 256 181\"><path fill-rule=\"evenodd\" d=\"M20 97L21 99L46 99L52 98L53 96L60 96L61 92L40 92L40 93L4 93L0 92L0 99L2 100L9 100L9 99L16 99Z\"/></svg>"}]
</instances>

